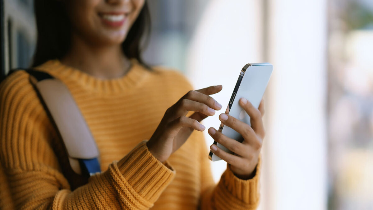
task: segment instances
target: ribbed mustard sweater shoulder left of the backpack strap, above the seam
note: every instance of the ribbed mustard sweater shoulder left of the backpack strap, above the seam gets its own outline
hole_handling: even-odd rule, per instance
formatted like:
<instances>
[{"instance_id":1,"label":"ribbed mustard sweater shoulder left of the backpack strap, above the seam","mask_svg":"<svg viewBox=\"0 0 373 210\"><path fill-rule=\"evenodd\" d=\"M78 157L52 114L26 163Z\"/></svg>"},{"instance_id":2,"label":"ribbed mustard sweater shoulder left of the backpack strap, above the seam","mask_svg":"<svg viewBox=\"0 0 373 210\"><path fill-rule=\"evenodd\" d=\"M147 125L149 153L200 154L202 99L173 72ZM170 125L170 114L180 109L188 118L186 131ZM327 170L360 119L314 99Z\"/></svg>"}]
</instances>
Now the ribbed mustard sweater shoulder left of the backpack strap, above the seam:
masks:
<instances>
[{"instance_id":1,"label":"ribbed mustard sweater shoulder left of the backpack strap, above the seam","mask_svg":"<svg viewBox=\"0 0 373 210\"><path fill-rule=\"evenodd\" d=\"M0 145L8 148L0 152L3 167L26 170L28 165L21 163L40 158L30 156L35 151L43 151L43 157L51 157L48 148L55 137L29 74L22 70L10 74L0 83Z\"/></svg>"}]
</instances>

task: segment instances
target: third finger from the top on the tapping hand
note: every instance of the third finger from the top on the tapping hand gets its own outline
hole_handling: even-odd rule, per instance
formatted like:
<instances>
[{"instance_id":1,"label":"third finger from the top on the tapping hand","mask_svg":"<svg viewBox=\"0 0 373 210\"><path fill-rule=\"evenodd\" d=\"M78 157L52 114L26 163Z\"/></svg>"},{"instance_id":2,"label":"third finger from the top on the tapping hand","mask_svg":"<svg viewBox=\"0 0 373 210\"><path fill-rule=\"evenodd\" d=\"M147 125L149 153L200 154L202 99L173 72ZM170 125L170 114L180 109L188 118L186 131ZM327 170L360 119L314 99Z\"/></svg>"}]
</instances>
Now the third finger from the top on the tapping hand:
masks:
<instances>
[{"instance_id":1,"label":"third finger from the top on the tapping hand","mask_svg":"<svg viewBox=\"0 0 373 210\"><path fill-rule=\"evenodd\" d=\"M215 114L215 110L210 108L208 105L192 101L189 99L182 99L179 104L179 110L177 111L176 115L181 116L188 113L188 111L193 112L201 112L204 115L212 116Z\"/></svg>"}]
</instances>

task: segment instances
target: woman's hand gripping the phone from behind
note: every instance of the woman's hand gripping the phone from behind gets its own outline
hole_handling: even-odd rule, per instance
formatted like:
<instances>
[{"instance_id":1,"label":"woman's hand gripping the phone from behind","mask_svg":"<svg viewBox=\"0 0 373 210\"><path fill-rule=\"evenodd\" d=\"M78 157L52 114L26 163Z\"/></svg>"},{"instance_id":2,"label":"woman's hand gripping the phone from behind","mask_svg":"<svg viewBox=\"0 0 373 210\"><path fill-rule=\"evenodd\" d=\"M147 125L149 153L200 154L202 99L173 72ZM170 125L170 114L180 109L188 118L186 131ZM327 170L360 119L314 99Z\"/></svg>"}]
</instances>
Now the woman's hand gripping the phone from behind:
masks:
<instances>
[{"instance_id":1,"label":"woman's hand gripping the phone from behind","mask_svg":"<svg viewBox=\"0 0 373 210\"><path fill-rule=\"evenodd\" d=\"M244 140L240 143L210 127L210 136L216 142L234 152L234 154L229 154L214 144L210 146L210 149L215 155L231 165L231 170L237 177L240 179L250 179L254 176L253 172L258 164L260 149L265 136L263 121L261 119L264 114L263 99L258 109L244 98L239 100L239 105L250 116L251 126L227 114L220 114L219 119L225 126L231 127L240 133Z\"/></svg>"}]
</instances>

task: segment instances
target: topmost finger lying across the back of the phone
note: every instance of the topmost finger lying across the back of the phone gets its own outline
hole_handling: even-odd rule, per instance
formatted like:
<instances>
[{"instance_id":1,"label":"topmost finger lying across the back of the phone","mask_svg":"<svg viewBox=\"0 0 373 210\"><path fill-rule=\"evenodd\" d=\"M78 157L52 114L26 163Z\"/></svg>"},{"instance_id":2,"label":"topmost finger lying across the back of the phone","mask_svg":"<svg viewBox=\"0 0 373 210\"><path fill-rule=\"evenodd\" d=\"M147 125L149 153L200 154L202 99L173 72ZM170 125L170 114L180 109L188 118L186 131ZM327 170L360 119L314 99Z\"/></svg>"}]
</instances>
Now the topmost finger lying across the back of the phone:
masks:
<instances>
[{"instance_id":1,"label":"topmost finger lying across the back of the phone","mask_svg":"<svg viewBox=\"0 0 373 210\"><path fill-rule=\"evenodd\" d=\"M251 127L253 127L255 133L264 138L264 126L259 109L255 108L250 101L244 98L239 100L239 104L250 116Z\"/></svg>"}]
</instances>

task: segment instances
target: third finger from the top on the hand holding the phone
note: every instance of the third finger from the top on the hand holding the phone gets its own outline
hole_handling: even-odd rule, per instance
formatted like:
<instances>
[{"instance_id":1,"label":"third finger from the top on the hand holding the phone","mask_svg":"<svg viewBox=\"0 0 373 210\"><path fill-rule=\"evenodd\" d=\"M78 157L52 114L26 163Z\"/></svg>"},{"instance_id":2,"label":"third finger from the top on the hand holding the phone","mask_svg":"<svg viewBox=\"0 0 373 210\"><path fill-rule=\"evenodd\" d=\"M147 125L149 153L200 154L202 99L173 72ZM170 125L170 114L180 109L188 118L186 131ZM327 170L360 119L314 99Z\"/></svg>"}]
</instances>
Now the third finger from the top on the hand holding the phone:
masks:
<instances>
[{"instance_id":1,"label":"third finger from the top on the hand holding the phone","mask_svg":"<svg viewBox=\"0 0 373 210\"><path fill-rule=\"evenodd\" d=\"M222 132L218 132L213 127L210 127L208 132L217 143L225 146L227 149L234 152L235 154L245 157L248 153L247 145L244 145L234 139L228 138L226 135L222 134Z\"/></svg>"}]
</instances>

